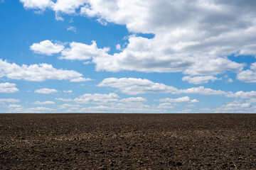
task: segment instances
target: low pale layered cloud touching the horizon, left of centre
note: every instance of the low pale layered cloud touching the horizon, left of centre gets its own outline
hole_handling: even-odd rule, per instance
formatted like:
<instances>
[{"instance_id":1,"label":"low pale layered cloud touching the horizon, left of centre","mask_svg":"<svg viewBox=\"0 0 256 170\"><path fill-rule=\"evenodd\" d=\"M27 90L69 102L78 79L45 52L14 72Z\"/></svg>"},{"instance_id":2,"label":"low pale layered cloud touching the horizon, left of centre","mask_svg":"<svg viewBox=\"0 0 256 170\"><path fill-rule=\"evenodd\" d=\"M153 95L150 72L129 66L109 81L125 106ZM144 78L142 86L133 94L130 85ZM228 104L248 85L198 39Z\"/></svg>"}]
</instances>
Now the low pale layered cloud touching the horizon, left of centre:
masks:
<instances>
[{"instance_id":1,"label":"low pale layered cloud touching the horizon, left of centre","mask_svg":"<svg viewBox=\"0 0 256 170\"><path fill-rule=\"evenodd\" d=\"M78 98L68 100L64 98L56 98L60 101L72 101L78 104L65 103L59 108L65 109L67 112L80 113L98 113L98 112L159 112L159 108L146 105L146 98L130 97L120 98L117 94L83 94ZM86 104L87 106L82 106ZM92 105L92 106L91 106Z\"/></svg>"}]
</instances>

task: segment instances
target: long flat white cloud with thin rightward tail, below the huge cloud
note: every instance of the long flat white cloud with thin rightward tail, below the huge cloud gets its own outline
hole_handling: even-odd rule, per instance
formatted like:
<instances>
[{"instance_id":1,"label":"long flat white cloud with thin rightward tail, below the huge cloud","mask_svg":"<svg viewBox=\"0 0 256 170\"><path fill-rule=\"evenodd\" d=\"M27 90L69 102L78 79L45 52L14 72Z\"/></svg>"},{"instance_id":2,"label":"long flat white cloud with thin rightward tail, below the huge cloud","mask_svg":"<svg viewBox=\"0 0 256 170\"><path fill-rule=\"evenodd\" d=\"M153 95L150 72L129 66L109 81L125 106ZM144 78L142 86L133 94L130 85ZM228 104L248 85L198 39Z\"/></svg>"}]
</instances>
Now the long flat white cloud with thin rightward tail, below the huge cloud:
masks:
<instances>
[{"instance_id":1,"label":"long flat white cloud with thin rightward tail, below the huge cloud","mask_svg":"<svg viewBox=\"0 0 256 170\"><path fill-rule=\"evenodd\" d=\"M192 87L189 89L176 89L173 86L154 83L148 79L136 78L107 78L102 80L97 86L109 86L118 89L124 94L137 95L147 93L170 93L170 94L226 94L225 91L213 90L204 86Z\"/></svg>"}]
</instances>

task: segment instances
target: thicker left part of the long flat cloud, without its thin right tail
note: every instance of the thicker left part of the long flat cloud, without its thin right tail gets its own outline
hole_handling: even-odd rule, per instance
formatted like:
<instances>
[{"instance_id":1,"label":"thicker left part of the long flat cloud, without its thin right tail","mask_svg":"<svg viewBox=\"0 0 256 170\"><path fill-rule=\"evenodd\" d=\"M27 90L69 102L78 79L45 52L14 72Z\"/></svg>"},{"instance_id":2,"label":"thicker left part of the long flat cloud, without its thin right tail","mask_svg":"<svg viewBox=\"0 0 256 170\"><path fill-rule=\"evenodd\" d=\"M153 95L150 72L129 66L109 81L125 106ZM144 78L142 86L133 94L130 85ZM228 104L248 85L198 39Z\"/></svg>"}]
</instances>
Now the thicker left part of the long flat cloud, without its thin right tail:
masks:
<instances>
[{"instance_id":1,"label":"thicker left part of the long flat cloud, without its thin right tail","mask_svg":"<svg viewBox=\"0 0 256 170\"><path fill-rule=\"evenodd\" d=\"M135 78L107 78L97 86L110 86L119 89L124 94L146 94L146 93L174 93L177 91L173 86L154 83L148 79Z\"/></svg>"}]
</instances>

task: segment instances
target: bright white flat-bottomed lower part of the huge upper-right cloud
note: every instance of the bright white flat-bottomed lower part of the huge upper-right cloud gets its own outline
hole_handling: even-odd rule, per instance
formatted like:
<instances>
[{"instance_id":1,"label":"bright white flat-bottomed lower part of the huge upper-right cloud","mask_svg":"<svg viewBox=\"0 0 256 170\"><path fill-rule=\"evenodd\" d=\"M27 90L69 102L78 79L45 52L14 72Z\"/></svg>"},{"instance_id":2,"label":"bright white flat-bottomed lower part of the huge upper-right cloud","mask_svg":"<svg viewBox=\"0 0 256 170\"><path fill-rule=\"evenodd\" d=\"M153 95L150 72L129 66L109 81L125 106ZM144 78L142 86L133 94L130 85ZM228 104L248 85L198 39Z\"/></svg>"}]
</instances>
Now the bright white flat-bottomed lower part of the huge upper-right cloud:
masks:
<instances>
[{"instance_id":1,"label":"bright white flat-bottomed lower part of the huge upper-right cloud","mask_svg":"<svg viewBox=\"0 0 256 170\"><path fill-rule=\"evenodd\" d=\"M129 44L122 52L114 55L105 52L93 57L92 62L95 62L97 71L183 72L189 75L215 75L226 71L240 71L244 67L244 64L222 57L177 52L169 54L171 49L166 49L166 44L169 42L163 42L163 38L156 40L130 37Z\"/></svg>"}]
</instances>

